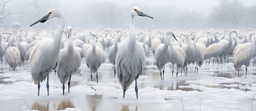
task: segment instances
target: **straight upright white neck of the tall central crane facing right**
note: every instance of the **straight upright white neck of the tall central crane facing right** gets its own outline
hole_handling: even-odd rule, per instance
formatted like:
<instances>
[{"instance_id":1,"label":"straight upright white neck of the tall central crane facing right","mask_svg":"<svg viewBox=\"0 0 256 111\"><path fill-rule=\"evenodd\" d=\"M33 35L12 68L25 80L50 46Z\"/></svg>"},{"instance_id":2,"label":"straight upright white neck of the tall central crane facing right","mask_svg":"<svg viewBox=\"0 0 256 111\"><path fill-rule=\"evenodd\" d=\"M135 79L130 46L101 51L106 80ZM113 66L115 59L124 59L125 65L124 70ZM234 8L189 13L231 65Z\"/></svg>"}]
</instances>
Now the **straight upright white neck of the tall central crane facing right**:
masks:
<instances>
[{"instance_id":1,"label":"straight upright white neck of the tall central crane facing right","mask_svg":"<svg viewBox=\"0 0 256 111\"><path fill-rule=\"evenodd\" d=\"M130 37L129 37L129 48L131 50L135 49L136 43L136 32L134 27L134 16L130 15Z\"/></svg>"}]
</instances>

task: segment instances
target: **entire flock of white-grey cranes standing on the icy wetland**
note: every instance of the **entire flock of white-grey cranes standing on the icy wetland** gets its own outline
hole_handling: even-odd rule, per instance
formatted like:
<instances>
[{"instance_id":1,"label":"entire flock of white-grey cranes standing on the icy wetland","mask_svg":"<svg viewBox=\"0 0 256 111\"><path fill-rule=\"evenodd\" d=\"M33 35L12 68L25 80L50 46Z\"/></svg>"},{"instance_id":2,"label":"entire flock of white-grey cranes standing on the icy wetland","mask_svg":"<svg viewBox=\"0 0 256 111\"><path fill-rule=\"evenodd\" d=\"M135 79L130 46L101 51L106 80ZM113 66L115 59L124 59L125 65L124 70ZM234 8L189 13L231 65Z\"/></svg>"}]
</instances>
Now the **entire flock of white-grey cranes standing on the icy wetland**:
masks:
<instances>
[{"instance_id":1,"label":"entire flock of white-grey cranes standing on the icy wetland","mask_svg":"<svg viewBox=\"0 0 256 111\"><path fill-rule=\"evenodd\" d=\"M210 59L213 64L215 59L218 64L219 62L222 64L226 62L226 57L233 56L232 62L239 76L241 66L246 66L247 73L247 67L255 57L256 40L253 40L254 33L250 29L246 31L225 30L224 33L213 29L205 31L136 30L135 16L153 19L138 7L132 7L129 33L111 29L74 30L71 26L68 26L65 31L62 11L51 9L42 19L30 26L57 17L59 25L54 34L41 29L33 33L28 33L28 30L5 31L2 29L0 57L1 60L4 57L13 70L19 65L22 66L29 58L32 81L38 86L38 96L40 82L45 79L47 79L46 86L49 95L49 73L53 70L62 84L64 95L65 83L68 81L68 87L70 87L70 79L81 66L83 58L87 67L90 68L91 81L93 81L93 73L96 73L98 82L97 69L105 62L105 58L108 58L113 64L113 77L117 74L123 88L123 98L125 98L125 91L135 80L137 99L137 79L143 73L145 59L150 52L155 57L155 65L160 70L161 80L164 80L165 65L168 62L171 62L173 69L176 64L177 77L178 70L181 75L182 71L187 75L187 66L190 63L195 63L195 73L204 62L206 65L209 64ZM166 37L164 37L164 32L166 32ZM229 32L228 37L226 32ZM108 53L107 57L105 53ZM173 72L174 70L172 74Z\"/></svg>"}]
</instances>

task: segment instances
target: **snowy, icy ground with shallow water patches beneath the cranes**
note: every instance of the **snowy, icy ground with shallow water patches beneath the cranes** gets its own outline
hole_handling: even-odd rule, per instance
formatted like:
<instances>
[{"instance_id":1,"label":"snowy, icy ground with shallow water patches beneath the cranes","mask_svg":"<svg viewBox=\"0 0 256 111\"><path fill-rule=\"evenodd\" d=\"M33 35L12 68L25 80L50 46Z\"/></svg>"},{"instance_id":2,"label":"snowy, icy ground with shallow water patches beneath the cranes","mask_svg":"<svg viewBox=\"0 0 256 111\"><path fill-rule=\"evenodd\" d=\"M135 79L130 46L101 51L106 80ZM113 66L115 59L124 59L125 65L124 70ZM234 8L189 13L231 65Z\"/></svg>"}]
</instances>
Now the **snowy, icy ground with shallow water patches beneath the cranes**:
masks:
<instances>
[{"instance_id":1,"label":"snowy, icy ground with shallow water patches beneath the cranes","mask_svg":"<svg viewBox=\"0 0 256 111\"><path fill-rule=\"evenodd\" d=\"M203 64L198 74L194 74L195 65L191 64L187 76L179 74L176 78L172 77L168 63L165 80L161 81L153 61L153 57L147 58L147 66L138 79L138 99L134 83L122 99L123 90L108 60L98 69L99 83L96 78L90 81L90 70L83 60L80 70L72 76L70 93L66 85L64 96L54 72L49 75L49 96L46 81L37 96L28 62L16 71L3 65L0 108L1 111L29 111L29 107L34 111L256 111L256 68L252 64L247 78L245 67L238 78L232 63Z\"/></svg>"}]
</instances>

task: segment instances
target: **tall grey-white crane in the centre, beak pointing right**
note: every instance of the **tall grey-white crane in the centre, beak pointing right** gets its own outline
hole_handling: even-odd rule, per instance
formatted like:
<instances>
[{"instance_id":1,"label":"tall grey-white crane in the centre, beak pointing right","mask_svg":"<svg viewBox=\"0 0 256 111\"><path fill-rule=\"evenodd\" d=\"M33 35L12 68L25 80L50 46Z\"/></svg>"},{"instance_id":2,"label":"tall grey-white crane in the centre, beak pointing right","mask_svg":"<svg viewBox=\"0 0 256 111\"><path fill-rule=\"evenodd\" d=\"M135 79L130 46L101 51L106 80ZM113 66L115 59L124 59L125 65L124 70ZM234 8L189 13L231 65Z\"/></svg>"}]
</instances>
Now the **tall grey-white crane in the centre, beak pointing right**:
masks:
<instances>
[{"instance_id":1,"label":"tall grey-white crane in the centre, beak pointing right","mask_svg":"<svg viewBox=\"0 0 256 111\"><path fill-rule=\"evenodd\" d=\"M130 11L130 37L120 43L116 56L115 68L117 70L118 80L123 88L123 98L125 91L135 80L135 92L138 99L137 79L143 72L145 66L145 52L142 45L136 40L134 27L134 16L151 16L141 12L138 7L132 7ZM153 18L152 18L153 19Z\"/></svg>"}]
</instances>

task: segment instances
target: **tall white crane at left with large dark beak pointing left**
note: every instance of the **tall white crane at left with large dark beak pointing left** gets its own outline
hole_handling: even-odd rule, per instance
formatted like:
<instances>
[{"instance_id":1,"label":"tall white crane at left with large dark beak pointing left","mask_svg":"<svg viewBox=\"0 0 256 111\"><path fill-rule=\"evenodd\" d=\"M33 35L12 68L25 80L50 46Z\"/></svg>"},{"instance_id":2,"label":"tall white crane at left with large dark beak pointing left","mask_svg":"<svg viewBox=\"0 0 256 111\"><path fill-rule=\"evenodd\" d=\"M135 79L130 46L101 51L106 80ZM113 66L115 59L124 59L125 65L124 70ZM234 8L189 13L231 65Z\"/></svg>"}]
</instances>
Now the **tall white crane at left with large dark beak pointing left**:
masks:
<instances>
[{"instance_id":1,"label":"tall white crane at left with large dark beak pointing left","mask_svg":"<svg viewBox=\"0 0 256 111\"><path fill-rule=\"evenodd\" d=\"M38 96L40 91L40 81L42 82L46 77L47 94L49 95L49 73L57 66L65 20L60 9L51 9L42 19L39 19L30 25L33 26L39 22L44 23L48 19L54 17L59 18L59 25L54 39L47 38L37 42L33 46L29 56L32 81L34 81L35 85L38 87Z\"/></svg>"}]
</instances>

